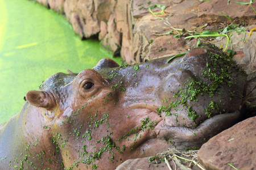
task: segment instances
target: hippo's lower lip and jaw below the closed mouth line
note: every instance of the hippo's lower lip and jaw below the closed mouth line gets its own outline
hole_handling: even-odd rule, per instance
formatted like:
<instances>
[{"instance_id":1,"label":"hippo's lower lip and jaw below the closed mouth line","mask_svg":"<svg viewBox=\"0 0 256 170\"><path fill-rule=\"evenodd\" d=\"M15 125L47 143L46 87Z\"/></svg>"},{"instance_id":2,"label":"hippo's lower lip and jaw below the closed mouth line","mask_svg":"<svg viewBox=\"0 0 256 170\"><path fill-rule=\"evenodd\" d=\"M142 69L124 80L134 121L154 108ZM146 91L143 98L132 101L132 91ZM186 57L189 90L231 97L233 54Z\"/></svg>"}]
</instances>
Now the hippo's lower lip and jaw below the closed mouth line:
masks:
<instances>
[{"instance_id":1,"label":"hippo's lower lip and jaw below the closed mouth line","mask_svg":"<svg viewBox=\"0 0 256 170\"><path fill-rule=\"evenodd\" d=\"M158 113L148 110L158 119L154 128L140 131L144 138L138 140L134 147L145 156L152 156L166 151L168 148L187 150L188 148L200 148L203 143L214 135L220 133L225 127L233 125L240 117L240 111L219 114L202 122L197 128L191 129L184 126L169 126Z\"/></svg>"}]
</instances>

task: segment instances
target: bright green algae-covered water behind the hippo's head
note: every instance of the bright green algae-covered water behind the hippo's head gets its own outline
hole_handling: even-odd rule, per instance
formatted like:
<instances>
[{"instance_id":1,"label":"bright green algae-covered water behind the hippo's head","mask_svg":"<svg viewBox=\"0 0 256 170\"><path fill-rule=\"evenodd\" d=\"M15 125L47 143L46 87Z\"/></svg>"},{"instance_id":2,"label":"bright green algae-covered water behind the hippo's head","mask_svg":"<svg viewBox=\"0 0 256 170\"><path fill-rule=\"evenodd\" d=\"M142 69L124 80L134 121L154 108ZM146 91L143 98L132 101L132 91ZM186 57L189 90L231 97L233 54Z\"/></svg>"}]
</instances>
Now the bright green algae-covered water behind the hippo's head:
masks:
<instances>
[{"instance_id":1,"label":"bright green algae-covered water behind the hippo's head","mask_svg":"<svg viewBox=\"0 0 256 170\"><path fill-rule=\"evenodd\" d=\"M100 42L81 41L54 11L34 1L0 0L0 124L20 111L27 91L38 90L52 74L79 73L105 57L111 58Z\"/></svg>"}]
</instances>

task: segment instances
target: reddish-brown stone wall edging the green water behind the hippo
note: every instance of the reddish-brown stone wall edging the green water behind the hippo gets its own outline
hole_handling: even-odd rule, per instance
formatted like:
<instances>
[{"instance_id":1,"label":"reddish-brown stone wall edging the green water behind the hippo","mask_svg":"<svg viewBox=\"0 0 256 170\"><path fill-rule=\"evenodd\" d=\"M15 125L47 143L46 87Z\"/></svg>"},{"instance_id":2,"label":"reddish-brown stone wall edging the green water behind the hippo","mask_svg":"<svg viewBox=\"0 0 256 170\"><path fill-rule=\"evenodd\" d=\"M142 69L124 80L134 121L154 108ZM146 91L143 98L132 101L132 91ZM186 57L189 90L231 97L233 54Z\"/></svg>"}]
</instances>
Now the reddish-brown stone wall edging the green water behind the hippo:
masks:
<instances>
[{"instance_id":1,"label":"reddish-brown stone wall edging the green water behind the hippo","mask_svg":"<svg viewBox=\"0 0 256 170\"><path fill-rule=\"evenodd\" d=\"M170 32L173 28L202 31L200 27L205 24L229 21L219 13L224 11L232 18L252 20L256 16L250 6L236 3L230 3L228 6L218 0L36 1L65 15L81 39L98 35L102 46L112 51L114 55L121 53L122 58L129 64L179 54L195 46L196 40L188 42L184 37L177 39L170 34L159 35ZM166 7L164 15L158 15L162 19L150 13L148 7L152 5ZM256 3L252 6L256 8ZM155 7L152 11L161 10ZM210 28L209 24L207 26L205 29Z\"/></svg>"}]
</instances>

